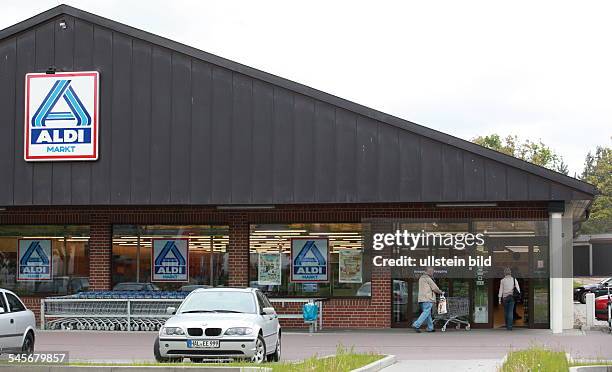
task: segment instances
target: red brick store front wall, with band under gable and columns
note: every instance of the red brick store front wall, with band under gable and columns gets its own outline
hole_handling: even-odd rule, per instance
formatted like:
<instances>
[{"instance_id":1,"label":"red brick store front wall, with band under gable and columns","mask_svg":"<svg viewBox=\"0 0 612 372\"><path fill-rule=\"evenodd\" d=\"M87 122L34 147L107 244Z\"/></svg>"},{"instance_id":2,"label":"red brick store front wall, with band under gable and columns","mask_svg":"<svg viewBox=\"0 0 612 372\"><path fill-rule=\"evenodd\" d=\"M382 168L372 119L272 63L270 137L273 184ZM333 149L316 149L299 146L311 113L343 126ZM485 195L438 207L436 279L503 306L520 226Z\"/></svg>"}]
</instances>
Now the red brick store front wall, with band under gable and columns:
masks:
<instances>
[{"instance_id":1,"label":"red brick store front wall, with band under gable and columns","mask_svg":"<svg viewBox=\"0 0 612 372\"><path fill-rule=\"evenodd\" d=\"M89 224L90 286L111 286L113 224L225 224L229 226L229 283L249 284L249 224L361 222L368 218L529 218L546 219L546 203L500 203L495 208L435 208L431 204L283 205L274 209L229 211L214 207L29 207L0 212L0 224ZM386 328L391 325L391 274L388 268L372 268L372 297L330 299L324 303L325 328ZM40 300L24 298L38 318ZM278 307L279 313L296 313L300 304ZM283 319L286 327L304 327L302 320Z\"/></svg>"}]
</instances>

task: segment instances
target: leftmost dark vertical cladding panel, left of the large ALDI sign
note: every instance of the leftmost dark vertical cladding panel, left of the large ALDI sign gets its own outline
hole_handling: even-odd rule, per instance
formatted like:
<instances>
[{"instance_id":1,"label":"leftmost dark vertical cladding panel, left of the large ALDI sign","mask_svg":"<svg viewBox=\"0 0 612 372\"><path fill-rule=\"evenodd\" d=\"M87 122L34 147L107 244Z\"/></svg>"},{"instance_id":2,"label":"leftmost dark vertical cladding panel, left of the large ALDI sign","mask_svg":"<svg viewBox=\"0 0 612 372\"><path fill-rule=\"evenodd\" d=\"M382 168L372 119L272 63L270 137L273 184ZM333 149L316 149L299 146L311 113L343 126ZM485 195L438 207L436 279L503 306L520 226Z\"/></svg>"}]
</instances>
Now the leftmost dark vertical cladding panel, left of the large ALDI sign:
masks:
<instances>
[{"instance_id":1,"label":"leftmost dark vertical cladding panel, left of the large ALDI sign","mask_svg":"<svg viewBox=\"0 0 612 372\"><path fill-rule=\"evenodd\" d=\"M16 49L15 38L0 41L0 102L5 105L0 115L0 205L13 204L15 154L20 153L17 149L23 148L23 144L21 147L15 147L14 142L17 130L15 126ZM23 130L23 127L21 128ZM23 159L19 161L23 162Z\"/></svg>"}]
</instances>

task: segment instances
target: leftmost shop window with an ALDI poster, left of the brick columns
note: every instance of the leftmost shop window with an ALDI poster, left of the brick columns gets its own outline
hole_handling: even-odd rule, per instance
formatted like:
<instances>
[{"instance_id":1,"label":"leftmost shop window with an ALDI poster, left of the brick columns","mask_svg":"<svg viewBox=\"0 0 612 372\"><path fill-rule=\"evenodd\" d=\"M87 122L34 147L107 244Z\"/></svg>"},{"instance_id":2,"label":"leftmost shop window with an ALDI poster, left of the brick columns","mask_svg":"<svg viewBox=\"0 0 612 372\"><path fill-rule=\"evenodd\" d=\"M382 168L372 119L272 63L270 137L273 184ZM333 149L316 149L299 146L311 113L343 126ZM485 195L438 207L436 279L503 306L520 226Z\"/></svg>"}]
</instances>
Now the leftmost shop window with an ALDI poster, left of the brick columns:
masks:
<instances>
[{"instance_id":1,"label":"leftmost shop window with an ALDI poster, left of the brick columns","mask_svg":"<svg viewBox=\"0 0 612 372\"><path fill-rule=\"evenodd\" d=\"M88 256L89 226L0 225L0 287L20 296L67 295L88 290Z\"/></svg>"}]
</instances>

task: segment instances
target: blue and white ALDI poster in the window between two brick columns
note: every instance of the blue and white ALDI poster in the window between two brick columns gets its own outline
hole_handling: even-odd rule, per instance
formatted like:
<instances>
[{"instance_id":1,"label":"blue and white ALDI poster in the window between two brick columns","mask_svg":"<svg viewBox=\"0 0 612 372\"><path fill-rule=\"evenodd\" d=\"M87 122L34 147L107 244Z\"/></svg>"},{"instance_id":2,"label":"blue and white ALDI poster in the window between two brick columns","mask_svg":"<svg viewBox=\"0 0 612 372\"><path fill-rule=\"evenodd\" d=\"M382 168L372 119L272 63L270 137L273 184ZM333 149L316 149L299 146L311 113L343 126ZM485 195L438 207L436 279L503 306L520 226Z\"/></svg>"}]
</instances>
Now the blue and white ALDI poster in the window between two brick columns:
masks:
<instances>
[{"instance_id":1,"label":"blue and white ALDI poster in the window between two brick columns","mask_svg":"<svg viewBox=\"0 0 612 372\"><path fill-rule=\"evenodd\" d=\"M189 281L189 239L153 239L154 282Z\"/></svg>"}]
</instances>

